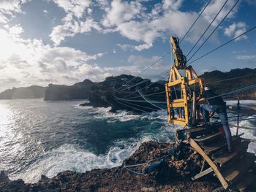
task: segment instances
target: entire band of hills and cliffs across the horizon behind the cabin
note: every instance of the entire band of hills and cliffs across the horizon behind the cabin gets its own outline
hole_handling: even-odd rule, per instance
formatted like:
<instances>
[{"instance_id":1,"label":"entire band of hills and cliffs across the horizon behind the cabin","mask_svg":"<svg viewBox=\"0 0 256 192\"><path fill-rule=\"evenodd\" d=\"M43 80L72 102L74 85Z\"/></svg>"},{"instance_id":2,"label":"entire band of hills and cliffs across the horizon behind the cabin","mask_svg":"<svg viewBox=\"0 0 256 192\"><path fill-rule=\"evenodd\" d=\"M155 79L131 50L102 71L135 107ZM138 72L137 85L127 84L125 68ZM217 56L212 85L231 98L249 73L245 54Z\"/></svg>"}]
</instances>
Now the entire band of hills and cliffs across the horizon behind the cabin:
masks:
<instances>
[{"instance_id":1,"label":"entire band of hills and cliffs across the horizon behind the cabin","mask_svg":"<svg viewBox=\"0 0 256 192\"><path fill-rule=\"evenodd\" d=\"M205 72L200 77L204 83L217 93L227 93L237 88L256 83L256 69L232 69L230 72ZM240 78L239 78L240 77ZM143 82L138 84L139 82ZM134 86L138 84L137 86ZM141 94L137 89L141 89ZM161 101L156 105L148 103L146 99ZM150 95L150 96L148 96ZM238 93L241 99L256 99L256 90L251 89ZM225 99L236 99L238 95L230 95ZM111 107L116 110L132 112L150 112L165 107L165 81L151 82L151 80L132 75L121 74L116 77L107 77L102 82L84 80L74 85L53 85L48 87L30 86L27 88L12 88L0 93L0 99L35 99L44 98L45 101L59 101L71 99L89 99L93 107Z\"/></svg>"}]
</instances>

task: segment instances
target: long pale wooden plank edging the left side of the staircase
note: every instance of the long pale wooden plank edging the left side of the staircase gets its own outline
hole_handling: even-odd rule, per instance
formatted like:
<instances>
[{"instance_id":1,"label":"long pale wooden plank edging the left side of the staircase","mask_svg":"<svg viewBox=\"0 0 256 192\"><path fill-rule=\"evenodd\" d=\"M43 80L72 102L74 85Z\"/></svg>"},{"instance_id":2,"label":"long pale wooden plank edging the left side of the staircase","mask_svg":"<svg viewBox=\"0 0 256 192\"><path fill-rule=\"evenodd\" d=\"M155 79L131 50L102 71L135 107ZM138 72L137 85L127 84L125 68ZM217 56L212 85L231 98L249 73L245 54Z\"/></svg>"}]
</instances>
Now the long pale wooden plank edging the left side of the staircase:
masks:
<instances>
[{"instance_id":1,"label":"long pale wooden plank edging the left side of the staircase","mask_svg":"<svg viewBox=\"0 0 256 192\"><path fill-rule=\"evenodd\" d=\"M203 149L195 142L193 139L189 139L189 144L199 153L200 155L203 156L203 158L206 160L206 162L211 166L211 168L214 170L214 173L217 175L220 183L222 183L223 188L228 188L227 181L225 178L222 176L222 174L219 172L219 169L217 166L214 164L213 161L211 161L211 158L206 155L206 153L203 151Z\"/></svg>"}]
</instances>

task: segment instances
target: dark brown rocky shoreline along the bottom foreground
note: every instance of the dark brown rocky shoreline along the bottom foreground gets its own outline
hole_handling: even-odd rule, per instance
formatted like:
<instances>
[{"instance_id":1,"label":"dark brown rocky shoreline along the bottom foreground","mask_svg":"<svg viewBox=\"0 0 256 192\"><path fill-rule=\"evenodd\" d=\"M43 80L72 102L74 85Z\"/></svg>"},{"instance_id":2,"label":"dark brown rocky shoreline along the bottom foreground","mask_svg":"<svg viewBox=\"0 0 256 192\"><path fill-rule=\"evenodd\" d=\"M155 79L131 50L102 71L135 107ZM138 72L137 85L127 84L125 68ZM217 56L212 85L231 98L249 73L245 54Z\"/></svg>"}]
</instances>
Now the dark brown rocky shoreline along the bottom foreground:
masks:
<instances>
[{"instance_id":1,"label":"dark brown rocky shoreline along the bottom foreground","mask_svg":"<svg viewBox=\"0 0 256 192\"><path fill-rule=\"evenodd\" d=\"M37 183L10 180L4 172L0 174L0 191L212 191L219 182L213 176L192 181L199 172L202 158L189 147L170 154L174 142L145 142L121 166L112 169L93 169L85 173L61 172L56 177L42 175ZM148 174L135 174L125 165L141 164L167 155L161 165ZM157 161L159 163L159 161ZM156 163L156 162L152 162ZM131 167L142 173L148 165ZM146 170L146 169L145 169Z\"/></svg>"}]
</instances>

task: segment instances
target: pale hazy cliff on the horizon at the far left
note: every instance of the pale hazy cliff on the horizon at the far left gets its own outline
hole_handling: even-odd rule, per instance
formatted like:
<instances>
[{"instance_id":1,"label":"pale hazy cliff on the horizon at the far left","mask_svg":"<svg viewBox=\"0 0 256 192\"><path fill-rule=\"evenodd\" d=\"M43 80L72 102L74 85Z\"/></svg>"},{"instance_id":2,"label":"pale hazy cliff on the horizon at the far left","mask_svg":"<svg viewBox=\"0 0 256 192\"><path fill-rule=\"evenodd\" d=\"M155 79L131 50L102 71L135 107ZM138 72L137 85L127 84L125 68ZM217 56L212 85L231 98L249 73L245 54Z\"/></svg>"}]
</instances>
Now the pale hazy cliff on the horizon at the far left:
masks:
<instances>
[{"instance_id":1,"label":"pale hazy cliff on the horizon at the far left","mask_svg":"<svg viewBox=\"0 0 256 192\"><path fill-rule=\"evenodd\" d=\"M0 99L37 99L45 96L45 87L32 85L26 88L12 88L0 93Z\"/></svg>"}]
</instances>

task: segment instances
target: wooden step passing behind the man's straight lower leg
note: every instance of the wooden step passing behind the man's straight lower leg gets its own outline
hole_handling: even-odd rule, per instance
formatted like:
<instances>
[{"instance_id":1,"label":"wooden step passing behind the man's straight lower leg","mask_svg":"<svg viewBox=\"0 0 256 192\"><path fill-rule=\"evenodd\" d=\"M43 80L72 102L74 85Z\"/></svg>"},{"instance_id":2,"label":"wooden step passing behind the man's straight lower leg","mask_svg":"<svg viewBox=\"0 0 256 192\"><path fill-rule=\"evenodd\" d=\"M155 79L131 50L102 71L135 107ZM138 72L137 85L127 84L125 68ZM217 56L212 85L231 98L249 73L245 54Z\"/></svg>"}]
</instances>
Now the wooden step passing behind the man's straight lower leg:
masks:
<instances>
[{"instance_id":1,"label":"wooden step passing behind the man's straight lower leg","mask_svg":"<svg viewBox=\"0 0 256 192\"><path fill-rule=\"evenodd\" d=\"M240 137L233 136L232 145L235 145L238 142L241 142ZM218 142L211 142L207 145L202 145L201 147L203 148L203 150L206 151L207 154L210 154L224 147L227 147L227 141L226 139L220 139Z\"/></svg>"}]
</instances>

